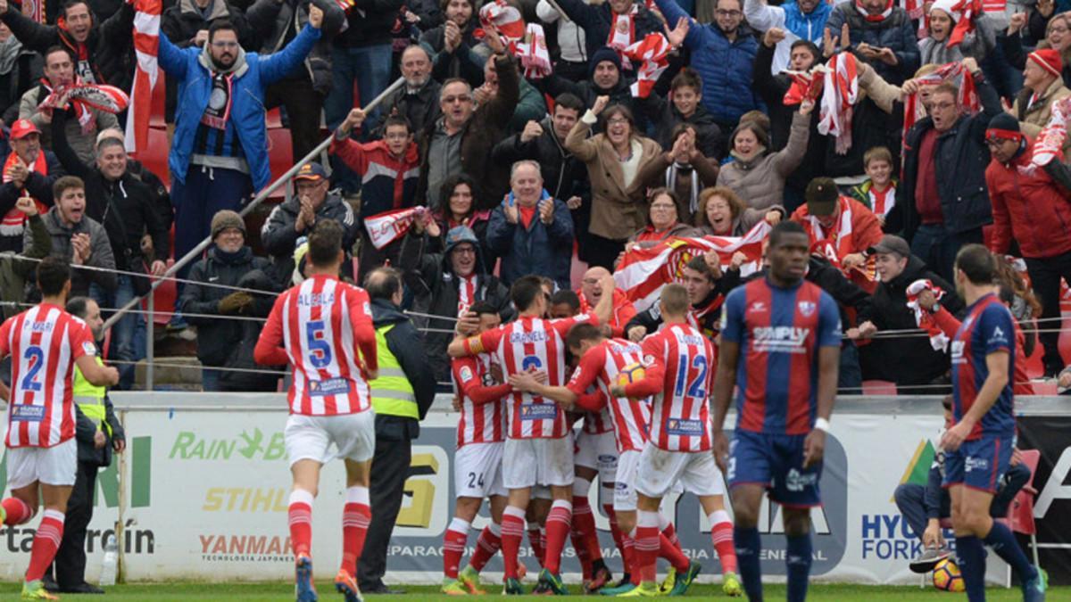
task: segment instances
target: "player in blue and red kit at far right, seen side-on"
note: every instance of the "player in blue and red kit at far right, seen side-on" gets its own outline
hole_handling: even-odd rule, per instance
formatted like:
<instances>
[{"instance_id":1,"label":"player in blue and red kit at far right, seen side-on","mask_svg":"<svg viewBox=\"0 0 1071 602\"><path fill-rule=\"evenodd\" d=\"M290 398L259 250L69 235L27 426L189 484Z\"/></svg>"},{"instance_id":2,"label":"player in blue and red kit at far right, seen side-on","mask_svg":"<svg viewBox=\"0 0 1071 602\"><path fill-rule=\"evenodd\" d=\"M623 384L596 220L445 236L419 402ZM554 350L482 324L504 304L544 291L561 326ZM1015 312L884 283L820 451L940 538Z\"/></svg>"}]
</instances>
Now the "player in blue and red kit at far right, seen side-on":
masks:
<instances>
[{"instance_id":1,"label":"player in blue and red kit at far right, seen side-on","mask_svg":"<svg viewBox=\"0 0 1071 602\"><path fill-rule=\"evenodd\" d=\"M1023 600L1045 599L1044 574L1030 565L1008 527L993 521L990 505L1008 470L1015 436L1015 320L997 297L996 260L968 244L955 256L955 288L967 316L952 340L952 416L941 436L945 481L952 499L955 553L967 599L985 600L989 545L1019 573Z\"/></svg>"}]
</instances>

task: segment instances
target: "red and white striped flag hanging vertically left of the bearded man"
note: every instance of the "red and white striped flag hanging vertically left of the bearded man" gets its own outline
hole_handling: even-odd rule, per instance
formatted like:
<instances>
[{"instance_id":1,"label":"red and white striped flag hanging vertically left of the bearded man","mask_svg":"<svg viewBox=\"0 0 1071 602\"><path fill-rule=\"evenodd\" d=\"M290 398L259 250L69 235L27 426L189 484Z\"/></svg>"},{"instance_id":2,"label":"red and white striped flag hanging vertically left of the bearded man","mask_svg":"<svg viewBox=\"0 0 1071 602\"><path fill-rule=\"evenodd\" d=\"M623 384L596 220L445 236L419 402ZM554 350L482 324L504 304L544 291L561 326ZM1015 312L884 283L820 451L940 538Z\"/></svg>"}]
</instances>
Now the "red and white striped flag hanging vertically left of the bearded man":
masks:
<instances>
[{"instance_id":1,"label":"red and white striped flag hanging vertically left of the bearded man","mask_svg":"<svg viewBox=\"0 0 1071 602\"><path fill-rule=\"evenodd\" d=\"M131 86L126 115L126 150L136 152L149 146L149 116L152 114L152 89L160 78L156 56L160 49L160 15L162 0L132 0L134 4L134 54L137 66Z\"/></svg>"}]
</instances>

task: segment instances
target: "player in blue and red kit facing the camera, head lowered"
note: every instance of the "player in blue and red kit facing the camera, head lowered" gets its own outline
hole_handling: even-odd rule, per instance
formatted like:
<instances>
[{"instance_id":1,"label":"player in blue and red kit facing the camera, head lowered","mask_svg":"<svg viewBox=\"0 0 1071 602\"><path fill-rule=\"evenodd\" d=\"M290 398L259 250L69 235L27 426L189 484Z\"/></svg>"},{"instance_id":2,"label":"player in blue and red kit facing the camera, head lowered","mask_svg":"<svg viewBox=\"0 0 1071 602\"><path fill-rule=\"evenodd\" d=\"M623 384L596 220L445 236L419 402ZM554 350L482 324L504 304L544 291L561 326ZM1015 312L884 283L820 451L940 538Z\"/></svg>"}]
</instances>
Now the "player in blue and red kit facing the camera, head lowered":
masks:
<instances>
[{"instance_id":1,"label":"player in blue and red kit facing the camera, head lowered","mask_svg":"<svg viewBox=\"0 0 1071 602\"><path fill-rule=\"evenodd\" d=\"M722 314L714 460L728 477L736 517L733 540L752 601L763 599L756 524L764 491L781 505L789 602L806 598L811 572L811 508L821 503L818 479L836 396L841 319L833 299L803 280L809 252L799 224L774 226L766 277L730 292ZM729 447L722 426L738 383Z\"/></svg>"}]
</instances>

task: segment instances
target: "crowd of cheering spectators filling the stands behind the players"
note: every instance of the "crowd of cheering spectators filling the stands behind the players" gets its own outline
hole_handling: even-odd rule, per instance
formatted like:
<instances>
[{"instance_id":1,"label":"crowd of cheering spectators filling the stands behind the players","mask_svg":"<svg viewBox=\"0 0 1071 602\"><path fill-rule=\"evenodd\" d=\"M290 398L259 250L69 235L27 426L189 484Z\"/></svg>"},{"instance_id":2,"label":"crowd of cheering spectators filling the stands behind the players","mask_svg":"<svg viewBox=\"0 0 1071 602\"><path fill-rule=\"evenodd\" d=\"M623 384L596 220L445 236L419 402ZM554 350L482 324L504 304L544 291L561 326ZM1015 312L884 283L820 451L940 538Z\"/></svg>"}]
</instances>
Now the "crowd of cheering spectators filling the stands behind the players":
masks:
<instances>
[{"instance_id":1,"label":"crowd of cheering spectators filling the stands behind the players","mask_svg":"<svg viewBox=\"0 0 1071 602\"><path fill-rule=\"evenodd\" d=\"M919 328L908 302L920 280L944 294L938 310L962 317L949 283L970 242L1023 259L1014 299L1034 301L1016 317L1052 320L1039 336L1043 371L1065 367L1056 318L1071 280L1071 170L1045 137L1064 127L1054 116L1071 115L1071 13L1009 2L977 14L951 0L925 3L921 18L899 0L494 1L543 26L552 73L522 64L518 40L482 21L472 0L165 1L161 181L126 155L124 112L65 92L130 90L134 7L66 0L39 22L33 3L0 0L0 250L44 246L94 268L75 271L73 295L107 315L210 238L180 271L191 282L176 323L196 328L206 389L250 390L274 377L221 368L256 367L235 342L255 337L272 292L302 279L303 239L321 220L343 226L348 277L402 271L403 306L440 382L458 316L486 301L510 319L507 290L523 275L590 306L629 251L793 220L812 238L808 277L842 306L846 390L947 385L947 350L881 333ZM670 48L653 82L627 49L648 35ZM381 104L356 108L397 75ZM273 179L273 107L295 161L331 144L257 230L236 212ZM1056 159L1039 167L1042 147ZM386 245L366 228L414 207ZM590 268L583 277L577 262ZM724 295L754 277L744 264L681 264L708 335ZM657 310L615 296L631 308L615 313L616 335L658 328ZM124 387L146 327L127 314L111 330Z\"/></svg>"}]
</instances>

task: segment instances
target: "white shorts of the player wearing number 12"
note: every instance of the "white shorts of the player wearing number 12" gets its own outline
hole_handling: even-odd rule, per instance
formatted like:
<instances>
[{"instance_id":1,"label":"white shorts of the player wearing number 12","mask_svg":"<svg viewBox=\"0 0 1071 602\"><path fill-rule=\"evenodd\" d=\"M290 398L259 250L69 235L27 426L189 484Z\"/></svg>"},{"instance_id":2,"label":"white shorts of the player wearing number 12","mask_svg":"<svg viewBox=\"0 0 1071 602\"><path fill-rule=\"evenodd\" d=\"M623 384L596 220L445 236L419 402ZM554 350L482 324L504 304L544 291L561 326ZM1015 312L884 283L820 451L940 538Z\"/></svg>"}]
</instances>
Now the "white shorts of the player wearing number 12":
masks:
<instances>
[{"instance_id":1,"label":"white shorts of the player wearing number 12","mask_svg":"<svg viewBox=\"0 0 1071 602\"><path fill-rule=\"evenodd\" d=\"M725 481L713 453L670 452L648 441L639 455L636 491L647 497L663 497L678 481L685 492L697 496L725 495Z\"/></svg>"}]
</instances>

